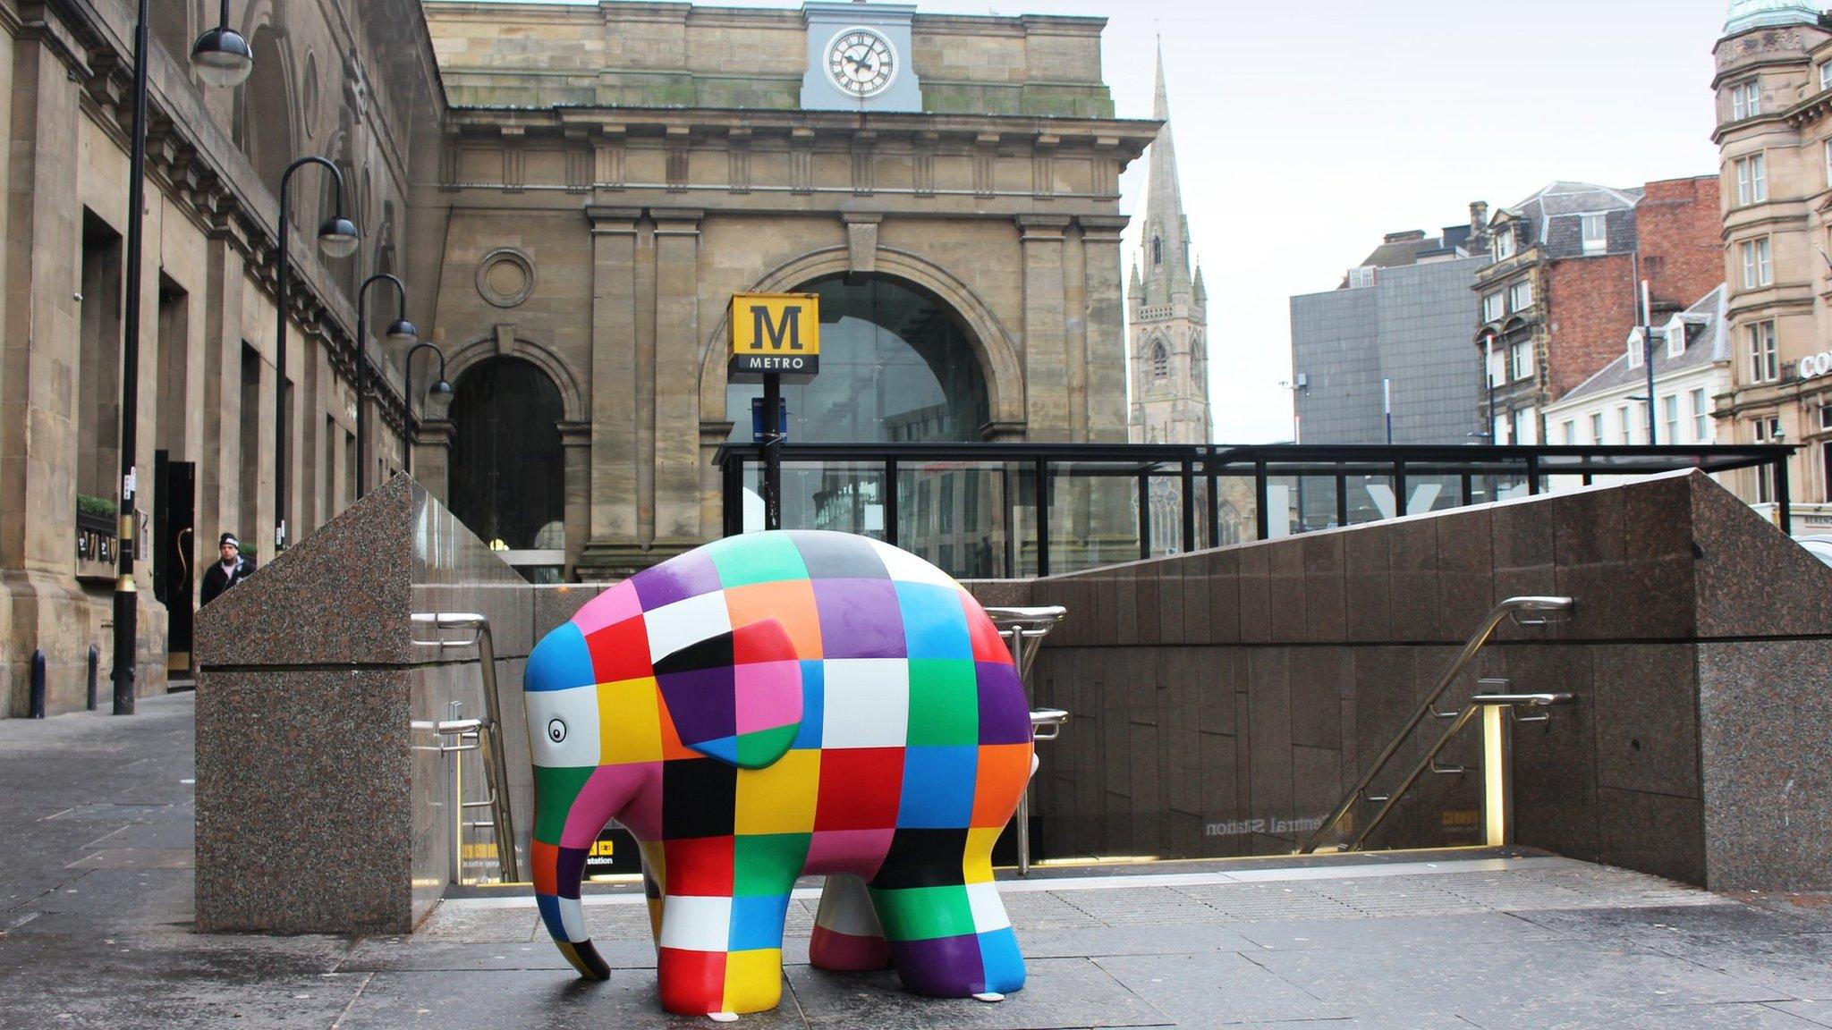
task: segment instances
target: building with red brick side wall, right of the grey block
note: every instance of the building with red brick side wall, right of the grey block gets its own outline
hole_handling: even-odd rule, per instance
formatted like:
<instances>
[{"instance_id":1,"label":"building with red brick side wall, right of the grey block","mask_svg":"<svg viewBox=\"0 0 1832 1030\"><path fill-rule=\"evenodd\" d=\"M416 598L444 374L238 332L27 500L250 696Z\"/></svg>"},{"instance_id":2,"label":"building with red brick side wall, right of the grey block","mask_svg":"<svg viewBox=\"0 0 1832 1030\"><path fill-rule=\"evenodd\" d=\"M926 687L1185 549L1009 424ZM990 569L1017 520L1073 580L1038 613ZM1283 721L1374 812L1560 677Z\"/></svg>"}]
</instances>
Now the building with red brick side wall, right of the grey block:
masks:
<instances>
[{"instance_id":1,"label":"building with red brick side wall, right of the grey block","mask_svg":"<svg viewBox=\"0 0 1832 1030\"><path fill-rule=\"evenodd\" d=\"M1495 442L1546 440L1544 407L1614 361L1641 323L1641 282L1658 324L1722 280L1717 189L1715 176L1557 181L1495 213L1495 262L1475 282Z\"/></svg>"}]
</instances>

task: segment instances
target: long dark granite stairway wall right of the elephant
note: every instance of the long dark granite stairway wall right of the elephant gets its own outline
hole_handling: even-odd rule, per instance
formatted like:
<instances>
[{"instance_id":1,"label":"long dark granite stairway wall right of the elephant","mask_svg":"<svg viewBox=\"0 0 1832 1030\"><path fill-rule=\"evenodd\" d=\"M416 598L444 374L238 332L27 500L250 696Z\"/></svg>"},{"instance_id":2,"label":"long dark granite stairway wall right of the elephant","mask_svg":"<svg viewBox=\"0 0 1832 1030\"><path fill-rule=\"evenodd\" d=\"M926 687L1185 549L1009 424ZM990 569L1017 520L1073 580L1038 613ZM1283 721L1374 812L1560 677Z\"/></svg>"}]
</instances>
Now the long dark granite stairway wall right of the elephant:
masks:
<instances>
[{"instance_id":1,"label":"long dark granite stairway wall right of the elephant","mask_svg":"<svg viewBox=\"0 0 1832 1030\"><path fill-rule=\"evenodd\" d=\"M1566 594L1572 621L1504 625L1447 695L1577 696L1513 729L1515 839L1713 889L1832 885L1832 570L1704 475L975 588L1068 608L1033 673L1074 713L1041 748L1048 854L1293 849L1493 603ZM1425 777L1374 845L1478 839L1473 739L1449 757L1471 773Z\"/></svg>"}]
</instances>

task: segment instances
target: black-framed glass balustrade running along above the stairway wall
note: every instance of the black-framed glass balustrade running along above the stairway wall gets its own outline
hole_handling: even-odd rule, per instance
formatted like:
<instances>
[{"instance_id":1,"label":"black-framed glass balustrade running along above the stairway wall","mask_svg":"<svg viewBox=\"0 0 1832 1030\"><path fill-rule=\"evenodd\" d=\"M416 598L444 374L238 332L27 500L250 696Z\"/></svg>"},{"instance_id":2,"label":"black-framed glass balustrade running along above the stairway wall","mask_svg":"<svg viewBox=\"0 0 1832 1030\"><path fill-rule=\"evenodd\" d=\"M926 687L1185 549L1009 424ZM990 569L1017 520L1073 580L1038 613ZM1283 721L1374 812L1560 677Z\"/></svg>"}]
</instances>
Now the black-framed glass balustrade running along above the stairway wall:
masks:
<instances>
[{"instance_id":1,"label":"black-framed glass balustrade running along above the stairway wall","mask_svg":"<svg viewBox=\"0 0 1832 1030\"><path fill-rule=\"evenodd\" d=\"M1020 579L1678 469L1770 469L1788 524L1792 453L1790 444L784 444L782 528L867 533L962 579ZM724 444L713 464L724 535L762 528L746 522L758 445ZM1140 517L1154 508L1160 519Z\"/></svg>"}]
</instances>

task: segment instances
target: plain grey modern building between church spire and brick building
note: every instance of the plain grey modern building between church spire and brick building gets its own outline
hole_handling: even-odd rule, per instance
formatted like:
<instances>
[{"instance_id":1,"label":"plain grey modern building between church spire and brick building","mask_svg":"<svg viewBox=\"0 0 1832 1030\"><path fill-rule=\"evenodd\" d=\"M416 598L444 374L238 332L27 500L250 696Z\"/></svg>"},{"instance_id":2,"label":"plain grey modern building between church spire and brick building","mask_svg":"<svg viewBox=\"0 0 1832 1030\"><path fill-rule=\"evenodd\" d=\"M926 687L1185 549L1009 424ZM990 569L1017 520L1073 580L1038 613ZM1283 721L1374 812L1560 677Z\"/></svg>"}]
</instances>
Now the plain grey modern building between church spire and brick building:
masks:
<instances>
[{"instance_id":1,"label":"plain grey modern building between church spire and brick building","mask_svg":"<svg viewBox=\"0 0 1832 1030\"><path fill-rule=\"evenodd\" d=\"M1394 233L1343 284L1292 297L1292 387L1303 444L1469 444L1482 361L1469 290L1489 264L1488 205L1440 236Z\"/></svg>"}]
</instances>

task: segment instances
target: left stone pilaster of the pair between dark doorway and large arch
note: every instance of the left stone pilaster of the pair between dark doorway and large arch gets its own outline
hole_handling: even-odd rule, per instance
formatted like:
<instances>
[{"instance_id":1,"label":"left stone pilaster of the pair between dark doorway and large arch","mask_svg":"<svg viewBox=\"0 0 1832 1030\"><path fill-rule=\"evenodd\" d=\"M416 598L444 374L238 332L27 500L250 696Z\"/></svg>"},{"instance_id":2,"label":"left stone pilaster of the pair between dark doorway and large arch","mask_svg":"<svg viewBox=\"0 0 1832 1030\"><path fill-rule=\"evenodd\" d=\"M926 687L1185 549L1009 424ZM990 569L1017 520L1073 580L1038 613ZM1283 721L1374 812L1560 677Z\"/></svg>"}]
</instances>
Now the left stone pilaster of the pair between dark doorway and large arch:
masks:
<instances>
[{"instance_id":1,"label":"left stone pilaster of the pair between dark doorway and large arch","mask_svg":"<svg viewBox=\"0 0 1832 1030\"><path fill-rule=\"evenodd\" d=\"M579 520L594 546L634 548L636 497L636 207L590 207L592 218L592 416L586 423L588 466L579 478L586 508ZM562 429L562 438L566 431ZM568 445L573 444L566 438ZM568 451L566 535L573 535L573 469ZM583 544L581 544L583 546ZM575 555L570 553L570 559Z\"/></svg>"}]
</instances>

